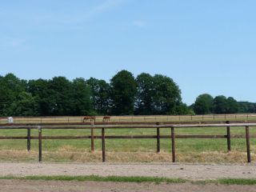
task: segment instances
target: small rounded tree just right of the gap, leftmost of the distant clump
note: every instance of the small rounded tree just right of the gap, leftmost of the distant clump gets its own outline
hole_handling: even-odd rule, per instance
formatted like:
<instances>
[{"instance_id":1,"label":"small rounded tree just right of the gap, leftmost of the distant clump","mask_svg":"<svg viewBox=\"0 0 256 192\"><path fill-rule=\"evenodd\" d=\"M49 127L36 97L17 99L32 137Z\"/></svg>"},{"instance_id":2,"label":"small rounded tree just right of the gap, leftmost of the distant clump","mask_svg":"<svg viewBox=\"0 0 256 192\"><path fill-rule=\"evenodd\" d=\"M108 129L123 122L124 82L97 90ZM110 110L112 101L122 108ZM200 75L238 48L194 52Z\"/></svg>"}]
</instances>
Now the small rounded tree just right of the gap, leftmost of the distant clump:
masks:
<instances>
[{"instance_id":1,"label":"small rounded tree just right of the gap, leftmost of the distant clump","mask_svg":"<svg viewBox=\"0 0 256 192\"><path fill-rule=\"evenodd\" d=\"M200 94L194 102L195 114L211 114L214 109L214 98L210 94Z\"/></svg>"}]
</instances>

